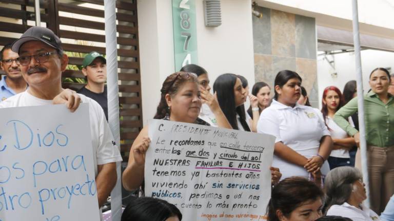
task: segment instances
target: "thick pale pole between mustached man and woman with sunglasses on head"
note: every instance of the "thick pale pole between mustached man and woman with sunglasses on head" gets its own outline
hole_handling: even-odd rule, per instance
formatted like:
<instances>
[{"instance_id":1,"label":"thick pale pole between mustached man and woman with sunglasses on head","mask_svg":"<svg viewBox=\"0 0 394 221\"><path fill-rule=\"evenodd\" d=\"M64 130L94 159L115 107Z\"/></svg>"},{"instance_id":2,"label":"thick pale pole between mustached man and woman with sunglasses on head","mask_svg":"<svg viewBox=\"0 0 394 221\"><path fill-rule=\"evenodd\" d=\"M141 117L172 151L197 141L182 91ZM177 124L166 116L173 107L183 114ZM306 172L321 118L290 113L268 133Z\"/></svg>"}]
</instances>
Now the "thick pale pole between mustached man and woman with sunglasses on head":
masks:
<instances>
[{"instance_id":1,"label":"thick pale pole between mustached man and woman with sunglasses on head","mask_svg":"<svg viewBox=\"0 0 394 221\"><path fill-rule=\"evenodd\" d=\"M117 84L116 6L113 0L104 0L105 43L107 59L108 123L117 147L121 147L119 123L119 86ZM117 180L111 192L111 218L122 216L121 162L116 163Z\"/></svg>"}]
</instances>

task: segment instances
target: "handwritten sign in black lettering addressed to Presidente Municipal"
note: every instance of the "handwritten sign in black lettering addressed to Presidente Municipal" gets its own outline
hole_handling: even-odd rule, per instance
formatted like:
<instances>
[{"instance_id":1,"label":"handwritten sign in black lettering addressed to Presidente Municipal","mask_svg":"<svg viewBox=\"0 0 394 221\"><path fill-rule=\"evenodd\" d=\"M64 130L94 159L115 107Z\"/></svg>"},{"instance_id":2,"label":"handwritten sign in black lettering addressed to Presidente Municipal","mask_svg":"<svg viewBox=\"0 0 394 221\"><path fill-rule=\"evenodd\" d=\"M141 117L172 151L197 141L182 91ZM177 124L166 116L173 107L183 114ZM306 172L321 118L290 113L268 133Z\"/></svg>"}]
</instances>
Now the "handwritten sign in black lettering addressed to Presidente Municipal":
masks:
<instances>
[{"instance_id":1,"label":"handwritten sign in black lettering addressed to Presidente Municipal","mask_svg":"<svg viewBox=\"0 0 394 221\"><path fill-rule=\"evenodd\" d=\"M263 220L271 195L274 137L152 120L145 195L178 207L185 220Z\"/></svg>"}]
</instances>

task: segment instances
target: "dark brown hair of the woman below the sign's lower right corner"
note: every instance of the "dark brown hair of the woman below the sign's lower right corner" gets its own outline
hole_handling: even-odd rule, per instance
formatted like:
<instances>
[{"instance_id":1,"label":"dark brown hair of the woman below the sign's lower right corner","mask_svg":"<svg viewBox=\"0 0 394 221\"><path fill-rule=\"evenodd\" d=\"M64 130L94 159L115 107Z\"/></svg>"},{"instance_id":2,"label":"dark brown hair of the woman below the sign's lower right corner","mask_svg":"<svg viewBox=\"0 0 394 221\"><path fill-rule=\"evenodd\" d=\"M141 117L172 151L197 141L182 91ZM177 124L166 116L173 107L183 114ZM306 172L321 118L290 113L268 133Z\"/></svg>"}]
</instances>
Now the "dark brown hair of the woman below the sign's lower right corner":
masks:
<instances>
[{"instance_id":1,"label":"dark brown hair of the woman below the sign's lower right corner","mask_svg":"<svg viewBox=\"0 0 394 221\"><path fill-rule=\"evenodd\" d=\"M272 189L267 211L268 221L279 221L277 210L289 217L291 212L309 201L323 200L324 193L315 183L301 176L291 176Z\"/></svg>"}]
</instances>

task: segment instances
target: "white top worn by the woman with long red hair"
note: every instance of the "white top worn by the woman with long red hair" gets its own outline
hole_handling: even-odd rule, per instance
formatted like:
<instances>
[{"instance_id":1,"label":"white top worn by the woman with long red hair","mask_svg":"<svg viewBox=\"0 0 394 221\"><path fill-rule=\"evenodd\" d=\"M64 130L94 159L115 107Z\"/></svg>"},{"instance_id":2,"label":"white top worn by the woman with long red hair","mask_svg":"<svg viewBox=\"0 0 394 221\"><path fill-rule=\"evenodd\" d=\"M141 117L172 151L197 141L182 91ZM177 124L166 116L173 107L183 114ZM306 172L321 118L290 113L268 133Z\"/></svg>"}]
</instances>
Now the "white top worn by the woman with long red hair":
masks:
<instances>
[{"instance_id":1,"label":"white top worn by the woman with long red hair","mask_svg":"<svg viewBox=\"0 0 394 221\"><path fill-rule=\"evenodd\" d=\"M343 130L340 126L338 126L338 124L336 122L334 122L334 120L330 117L326 117L326 123L327 126L330 128L330 134L332 139L336 138L336 139L344 139L347 138L347 132L345 130ZM349 123L351 126L354 127L353 121L351 120L351 117L349 117ZM337 157L337 158L350 158L349 155L349 150L345 150L345 149L337 149L337 150L332 150L330 153L331 157Z\"/></svg>"}]
</instances>

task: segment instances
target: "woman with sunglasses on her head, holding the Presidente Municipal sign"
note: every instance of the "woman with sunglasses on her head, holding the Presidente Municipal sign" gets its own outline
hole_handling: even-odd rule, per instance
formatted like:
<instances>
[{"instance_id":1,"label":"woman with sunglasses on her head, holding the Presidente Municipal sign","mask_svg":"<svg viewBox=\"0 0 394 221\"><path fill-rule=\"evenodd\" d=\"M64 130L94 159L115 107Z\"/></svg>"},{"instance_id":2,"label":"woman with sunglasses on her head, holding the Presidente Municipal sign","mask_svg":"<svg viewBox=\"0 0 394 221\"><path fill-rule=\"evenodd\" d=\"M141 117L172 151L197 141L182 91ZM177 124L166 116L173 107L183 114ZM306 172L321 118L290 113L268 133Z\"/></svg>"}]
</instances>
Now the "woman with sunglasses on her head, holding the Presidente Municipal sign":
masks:
<instances>
[{"instance_id":1,"label":"woman with sunglasses on her head, holding the Presidente Municipal sign","mask_svg":"<svg viewBox=\"0 0 394 221\"><path fill-rule=\"evenodd\" d=\"M202 99L195 74L188 72L173 73L163 82L160 91L161 99L154 119L210 126L198 117ZM220 108L219 105L218 108ZM125 189L137 189L143 183L145 153L149 144L148 127L145 126L130 149L129 162L122 176Z\"/></svg>"}]
</instances>

